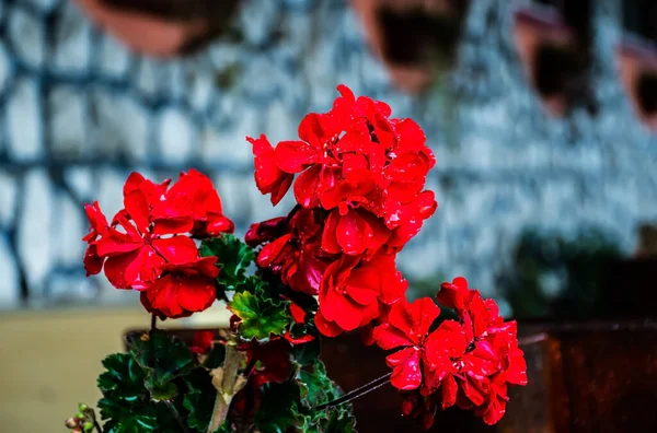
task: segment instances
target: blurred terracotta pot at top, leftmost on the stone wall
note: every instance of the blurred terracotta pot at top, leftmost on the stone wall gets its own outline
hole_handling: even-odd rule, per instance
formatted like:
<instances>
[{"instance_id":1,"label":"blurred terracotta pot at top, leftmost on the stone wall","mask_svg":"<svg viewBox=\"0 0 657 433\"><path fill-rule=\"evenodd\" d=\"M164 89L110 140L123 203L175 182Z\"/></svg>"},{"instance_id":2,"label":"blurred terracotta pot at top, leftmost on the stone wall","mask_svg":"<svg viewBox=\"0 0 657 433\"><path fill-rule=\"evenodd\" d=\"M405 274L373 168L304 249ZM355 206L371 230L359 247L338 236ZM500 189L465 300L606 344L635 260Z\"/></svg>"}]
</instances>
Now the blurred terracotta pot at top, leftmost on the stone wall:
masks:
<instances>
[{"instance_id":1,"label":"blurred terracotta pot at top, leftmost on the stone wall","mask_svg":"<svg viewBox=\"0 0 657 433\"><path fill-rule=\"evenodd\" d=\"M132 50L172 57L217 35L237 9L238 0L76 0L103 30Z\"/></svg>"}]
</instances>

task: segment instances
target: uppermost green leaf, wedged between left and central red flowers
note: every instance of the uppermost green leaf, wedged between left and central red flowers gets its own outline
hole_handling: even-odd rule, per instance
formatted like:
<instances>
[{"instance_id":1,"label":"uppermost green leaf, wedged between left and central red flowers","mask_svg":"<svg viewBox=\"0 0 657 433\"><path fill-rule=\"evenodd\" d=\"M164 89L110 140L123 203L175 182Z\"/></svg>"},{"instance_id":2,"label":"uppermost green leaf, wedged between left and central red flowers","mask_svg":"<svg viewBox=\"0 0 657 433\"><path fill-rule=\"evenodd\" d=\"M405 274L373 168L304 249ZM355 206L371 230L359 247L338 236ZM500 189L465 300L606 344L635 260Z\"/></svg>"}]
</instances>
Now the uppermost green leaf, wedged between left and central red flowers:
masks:
<instances>
[{"instance_id":1,"label":"uppermost green leaf, wedged between left and central red flowers","mask_svg":"<svg viewBox=\"0 0 657 433\"><path fill-rule=\"evenodd\" d=\"M204 241L199 253L201 257L216 256L221 268L217 277L217 299L227 301L226 292L244 290L249 278L244 272L255 260L253 249L231 234Z\"/></svg>"}]
</instances>

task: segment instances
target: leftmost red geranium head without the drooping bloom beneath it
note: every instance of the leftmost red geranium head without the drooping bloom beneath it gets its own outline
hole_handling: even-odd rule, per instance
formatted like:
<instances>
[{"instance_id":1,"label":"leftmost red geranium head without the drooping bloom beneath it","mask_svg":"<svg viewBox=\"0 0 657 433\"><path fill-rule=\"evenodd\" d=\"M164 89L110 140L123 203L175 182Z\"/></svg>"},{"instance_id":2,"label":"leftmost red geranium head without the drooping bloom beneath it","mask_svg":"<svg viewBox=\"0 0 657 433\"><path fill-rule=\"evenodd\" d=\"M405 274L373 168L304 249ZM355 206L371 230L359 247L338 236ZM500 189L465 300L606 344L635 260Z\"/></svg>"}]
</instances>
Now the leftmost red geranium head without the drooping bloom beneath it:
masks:
<instances>
[{"instance_id":1,"label":"leftmost red geranium head without the drooping bloom beneath it","mask_svg":"<svg viewBox=\"0 0 657 433\"><path fill-rule=\"evenodd\" d=\"M89 274L105 276L117 289L146 290L165 265L196 260L196 244L182 234L208 235L232 231L232 222L221 214L219 196L210 180L196 171L154 184L132 173L124 186L124 206L112 221L95 202L87 204L91 223L83 238L89 243L84 266Z\"/></svg>"}]
</instances>

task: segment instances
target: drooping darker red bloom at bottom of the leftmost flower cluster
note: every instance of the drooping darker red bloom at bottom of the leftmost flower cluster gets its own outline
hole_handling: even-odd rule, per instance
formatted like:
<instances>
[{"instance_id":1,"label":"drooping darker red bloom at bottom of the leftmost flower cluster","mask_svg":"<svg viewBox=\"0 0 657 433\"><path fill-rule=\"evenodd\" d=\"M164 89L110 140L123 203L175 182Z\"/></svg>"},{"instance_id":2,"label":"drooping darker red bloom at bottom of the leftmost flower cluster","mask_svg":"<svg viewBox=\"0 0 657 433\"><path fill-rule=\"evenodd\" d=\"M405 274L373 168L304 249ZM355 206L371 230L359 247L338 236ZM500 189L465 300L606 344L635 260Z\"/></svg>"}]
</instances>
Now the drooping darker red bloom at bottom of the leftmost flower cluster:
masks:
<instances>
[{"instance_id":1,"label":"drooping darker red bloom at bottom of the leftmost flower cluster","mask_svg":"<svg viewBox=\"0 0 657 433\"><path fill-rule=\"evenodd\" d=\"M141 292L141 303L160 317L188 317L215 302L217 257L204 257L187 264L162 266L162 276Z\"/></svg>"}]
</instances>

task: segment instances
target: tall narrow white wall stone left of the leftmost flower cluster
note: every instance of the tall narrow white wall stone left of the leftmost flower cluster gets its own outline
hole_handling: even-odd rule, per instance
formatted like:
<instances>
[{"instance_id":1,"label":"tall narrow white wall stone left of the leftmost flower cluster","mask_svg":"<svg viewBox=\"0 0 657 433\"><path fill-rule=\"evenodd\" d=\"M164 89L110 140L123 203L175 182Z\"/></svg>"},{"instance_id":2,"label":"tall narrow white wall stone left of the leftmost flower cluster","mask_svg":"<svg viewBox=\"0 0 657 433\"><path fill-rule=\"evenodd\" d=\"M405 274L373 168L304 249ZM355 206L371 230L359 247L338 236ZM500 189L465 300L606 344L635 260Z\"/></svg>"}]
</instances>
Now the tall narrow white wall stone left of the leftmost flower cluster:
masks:
<instances>
[{"instance_id":1,"label":"tall narrow white wall stone left of the leftmost flower cluster","mask_svg":"<svg viewBox=\"0 0 657 433\"><path fill-rule=\"evenodd\" d=\"M23 206L18 224L18 249L31 295L42 297L45 279L53 266L54 200L50 180L44 169L33 169L25 175Z\"/></svg>"}]
</instances>

